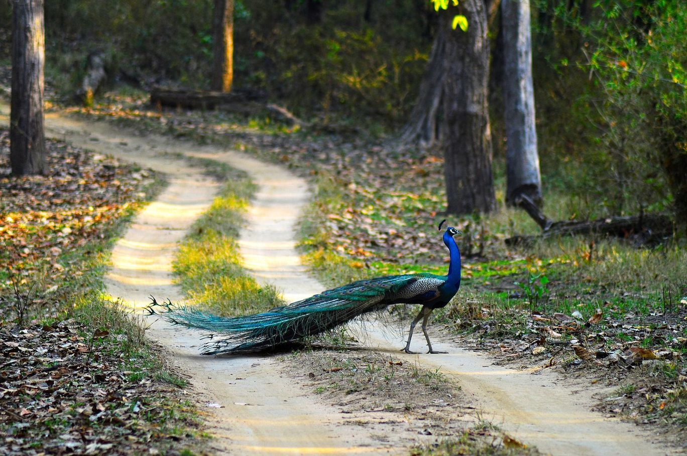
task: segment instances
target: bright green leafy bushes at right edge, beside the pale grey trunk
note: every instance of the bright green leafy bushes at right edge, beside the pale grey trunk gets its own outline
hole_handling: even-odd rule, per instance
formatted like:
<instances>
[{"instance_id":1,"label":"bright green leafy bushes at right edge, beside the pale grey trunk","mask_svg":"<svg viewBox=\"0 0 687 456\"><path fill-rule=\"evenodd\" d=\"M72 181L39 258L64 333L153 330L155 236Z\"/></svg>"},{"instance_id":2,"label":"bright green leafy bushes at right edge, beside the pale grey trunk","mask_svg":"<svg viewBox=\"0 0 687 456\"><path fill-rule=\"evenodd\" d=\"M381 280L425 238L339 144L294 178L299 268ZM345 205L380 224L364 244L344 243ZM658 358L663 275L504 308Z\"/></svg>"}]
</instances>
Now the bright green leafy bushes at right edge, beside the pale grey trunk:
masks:
<instances>
[{"instance_id":1,"label":"bright green leafy bushes at right edge, beside the pale grey trunk","mask_svg":"<svg viewBox=\"0 0 687 456\"><path fill-rule=\"evenodd\" d=\"M559 148L559 163L549 165L561 184L585 198L585 215L662 211L687 194L677 177L687 173L687 12L681 3L537 5L535 55L545 56L554 71L543 82L546 92L537 89L538 109L554 114L544 114L552 120L540 129L540 144ZM565 100L570 113L561 112Z\"/></svg>"}]
</instances>

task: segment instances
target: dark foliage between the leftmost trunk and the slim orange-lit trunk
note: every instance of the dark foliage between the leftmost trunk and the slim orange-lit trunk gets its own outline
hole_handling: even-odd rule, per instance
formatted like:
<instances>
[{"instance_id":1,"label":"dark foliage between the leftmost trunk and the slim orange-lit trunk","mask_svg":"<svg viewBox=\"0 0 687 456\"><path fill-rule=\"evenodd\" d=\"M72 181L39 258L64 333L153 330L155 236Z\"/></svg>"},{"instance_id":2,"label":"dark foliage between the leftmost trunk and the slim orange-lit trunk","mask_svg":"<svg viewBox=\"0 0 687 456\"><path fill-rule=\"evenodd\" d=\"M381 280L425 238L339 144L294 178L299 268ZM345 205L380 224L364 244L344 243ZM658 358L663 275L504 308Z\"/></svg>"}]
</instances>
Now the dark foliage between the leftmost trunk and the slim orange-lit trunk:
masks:
<instances>
[{"instance_id":1,"label":"dark foliage between the leftmost trunk and the slim orange-lit trunk","mask_svg":"<svg viewBox=\"0 0 687 456\"><path fill-rule=\"evenodd\" d=\"M109 56L111 76L121 69L197 87L212 65L212 9L211 0L46 2L47 71L78 73L85 56L100 50Z\"/></svg>"}]
</instances>

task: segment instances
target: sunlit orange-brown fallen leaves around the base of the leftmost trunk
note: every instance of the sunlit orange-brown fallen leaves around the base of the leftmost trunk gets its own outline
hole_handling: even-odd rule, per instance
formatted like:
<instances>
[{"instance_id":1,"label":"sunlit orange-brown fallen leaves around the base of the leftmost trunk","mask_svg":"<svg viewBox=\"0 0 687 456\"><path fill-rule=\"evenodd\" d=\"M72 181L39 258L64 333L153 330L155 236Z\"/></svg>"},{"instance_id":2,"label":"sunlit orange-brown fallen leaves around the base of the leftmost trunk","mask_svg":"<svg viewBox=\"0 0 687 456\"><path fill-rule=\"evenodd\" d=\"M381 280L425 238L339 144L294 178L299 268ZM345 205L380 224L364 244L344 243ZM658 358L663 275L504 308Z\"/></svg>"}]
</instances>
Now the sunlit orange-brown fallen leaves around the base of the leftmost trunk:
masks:
<instances>
[{"instance_id":1,"label":"sunlit orange-brown fallen leaves around the base of the leftmost trunk","mask_svg":"<svg viewBox=\"0 0 687 456\"><path fill-rule=\"evenodd\" d=\"M48 140L46 176L10 175L9 139L0 130L0 308L14 301L12 279L38 280L32 304L43 304L60 286L84 273L79 264L95 255L75 249L104 239L113 220L145 198L153 173L115 159Z\"/></svg>"}]
</instances>

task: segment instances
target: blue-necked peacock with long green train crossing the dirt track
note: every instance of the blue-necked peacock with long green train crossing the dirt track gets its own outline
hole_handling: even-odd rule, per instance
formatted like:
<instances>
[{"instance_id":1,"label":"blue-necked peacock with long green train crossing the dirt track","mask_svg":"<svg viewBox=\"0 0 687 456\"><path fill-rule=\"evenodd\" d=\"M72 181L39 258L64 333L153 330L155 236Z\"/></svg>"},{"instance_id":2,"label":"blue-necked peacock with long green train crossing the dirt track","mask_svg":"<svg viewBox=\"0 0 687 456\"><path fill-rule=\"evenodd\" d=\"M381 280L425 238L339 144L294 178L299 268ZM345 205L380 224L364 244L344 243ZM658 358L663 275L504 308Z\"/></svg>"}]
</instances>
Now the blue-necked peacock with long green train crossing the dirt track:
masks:
<instances>
[{"instance_id":1,"label":"blue-necked peacock with long green train crossing the dirt track","mask_svg":"<svg viewBox=\"0 0 687 456\"><path fill-rule=\"evenodd\" d=\"M445 221L439 224L439 231ZM449 304L460 287L460 250L453 238L459 233L453 227L447 227L444 231L444 244L451 256L447 275L417 273L359 280L288 306L247 317L218 317L193 307L175 306L171 301L158 304L152 296L148 312L172 324L220 334L218 338L208 336L210 342L205 343L203 354L210 355L266 350L332 330L359 315L381 310L391 304L420 304L422 308L410 323L408 341L401 351L416 353L410 350L410 341L415 326L423 320L428 353L446 353L433 350L427 335L427 321L434 309Z\"/></svg>"}]
</instances>

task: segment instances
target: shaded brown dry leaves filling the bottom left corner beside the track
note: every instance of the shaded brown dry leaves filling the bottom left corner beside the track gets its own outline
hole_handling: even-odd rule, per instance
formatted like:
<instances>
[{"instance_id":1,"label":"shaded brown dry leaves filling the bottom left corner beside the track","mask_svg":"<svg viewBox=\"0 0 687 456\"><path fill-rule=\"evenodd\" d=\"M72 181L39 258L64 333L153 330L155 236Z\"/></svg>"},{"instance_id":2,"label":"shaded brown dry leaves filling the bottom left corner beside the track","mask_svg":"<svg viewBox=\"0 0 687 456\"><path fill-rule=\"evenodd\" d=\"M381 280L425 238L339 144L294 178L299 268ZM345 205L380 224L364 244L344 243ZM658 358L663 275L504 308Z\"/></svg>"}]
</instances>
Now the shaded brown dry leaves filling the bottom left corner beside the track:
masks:
<instances>
[{"instance_id":1,"label":"shaded brown dry leaves filling the bottom left corner beside the track","mask_svg":"<svg viewBox=\"0 0 687 456\"><path fill-rule=\"evenodd\" d=\"M74 320L0 328L0 454L149 454L190 437L179 429L192 415L172 407L181 391L115 336L88 331Z\"/></svg>"}]
</instances>

